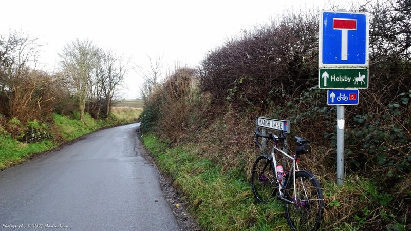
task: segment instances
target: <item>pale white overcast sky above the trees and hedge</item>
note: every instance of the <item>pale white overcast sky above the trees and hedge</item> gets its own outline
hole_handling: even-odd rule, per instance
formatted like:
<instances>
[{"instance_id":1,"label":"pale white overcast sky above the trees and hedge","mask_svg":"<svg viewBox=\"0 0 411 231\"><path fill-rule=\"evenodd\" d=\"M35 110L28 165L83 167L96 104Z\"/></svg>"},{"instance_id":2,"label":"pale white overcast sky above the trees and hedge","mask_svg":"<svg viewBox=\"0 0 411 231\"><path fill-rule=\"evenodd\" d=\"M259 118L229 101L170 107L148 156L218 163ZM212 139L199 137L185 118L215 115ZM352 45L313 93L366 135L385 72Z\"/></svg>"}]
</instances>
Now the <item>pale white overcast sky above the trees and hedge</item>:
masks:
<instances>
[{"instance_id":1,"label":"pale white overcast sky above the trees and hedge","mask_svg":"<svg viewBox=\"0 0 411 231\"><path fill-rule=\"evenodd\" d=\"M241 29L269 23L287 9L329 10L329 2L13 0L1 4L0 33L4 36L17 30L38 38L44 44L39 67L50 72L57 68L58 53L74 38L89 39L100 48L131 57L142 67L148 66L147 55L154 59L158 54L163 55L165 68L176 64L196 67L209 50L240 35ZM350 8L347 1L337 2ZM125 97L138 97L141 77L131 70L126 83Z\"/></svg>"}]
</instances>

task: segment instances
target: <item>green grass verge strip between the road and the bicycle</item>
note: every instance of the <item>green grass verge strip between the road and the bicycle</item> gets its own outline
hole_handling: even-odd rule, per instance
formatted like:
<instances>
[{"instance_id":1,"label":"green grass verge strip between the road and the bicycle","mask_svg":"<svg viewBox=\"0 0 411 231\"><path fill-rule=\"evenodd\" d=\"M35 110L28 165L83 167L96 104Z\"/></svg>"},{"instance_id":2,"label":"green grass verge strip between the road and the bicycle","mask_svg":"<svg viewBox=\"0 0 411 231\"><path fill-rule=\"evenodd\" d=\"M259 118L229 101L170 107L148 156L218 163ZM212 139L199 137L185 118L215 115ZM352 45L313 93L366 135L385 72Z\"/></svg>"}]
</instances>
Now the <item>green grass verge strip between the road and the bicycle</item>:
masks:
<instances>
[{"instance_id":1,"label":"green grass verge strip between the road and the bicycle","mask_svg":"<svg viewBox=\"0 0 411 231\"><path fill-rule=\"evenodd\" d=\"M162 171L174 179L191 205L191 212L208 230L289 230L283 204L276 199L256 203L250 184L235 172L223 174L222 167L201 156L198 148L167 143L152 134L144 145Z\"/></svg>"}]
</instances>

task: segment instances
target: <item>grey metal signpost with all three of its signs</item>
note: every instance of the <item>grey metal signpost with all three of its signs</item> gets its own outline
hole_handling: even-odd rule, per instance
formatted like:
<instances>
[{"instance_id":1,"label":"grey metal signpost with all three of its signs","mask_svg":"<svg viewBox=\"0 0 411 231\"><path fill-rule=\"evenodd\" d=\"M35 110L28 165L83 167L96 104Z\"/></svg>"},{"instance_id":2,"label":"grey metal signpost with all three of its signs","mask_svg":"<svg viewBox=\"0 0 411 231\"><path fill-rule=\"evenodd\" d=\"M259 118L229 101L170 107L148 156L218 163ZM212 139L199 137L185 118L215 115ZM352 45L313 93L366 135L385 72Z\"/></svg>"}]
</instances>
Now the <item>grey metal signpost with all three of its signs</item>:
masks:
<instances>
[{"instance_id":1,"label":"grey metal signpost with all three of its signs","mask_svg":"<svg viewBox=\"0 0 411 231\"><path fill-rule=\"evenodd\" d=\"M368 88L368 28L366 13L320 14L319 88L351 89L327 93L328 105L337 106L337 185L345 179L344 105L357 105L358 88Z\"/></svg>"}]
</instances>

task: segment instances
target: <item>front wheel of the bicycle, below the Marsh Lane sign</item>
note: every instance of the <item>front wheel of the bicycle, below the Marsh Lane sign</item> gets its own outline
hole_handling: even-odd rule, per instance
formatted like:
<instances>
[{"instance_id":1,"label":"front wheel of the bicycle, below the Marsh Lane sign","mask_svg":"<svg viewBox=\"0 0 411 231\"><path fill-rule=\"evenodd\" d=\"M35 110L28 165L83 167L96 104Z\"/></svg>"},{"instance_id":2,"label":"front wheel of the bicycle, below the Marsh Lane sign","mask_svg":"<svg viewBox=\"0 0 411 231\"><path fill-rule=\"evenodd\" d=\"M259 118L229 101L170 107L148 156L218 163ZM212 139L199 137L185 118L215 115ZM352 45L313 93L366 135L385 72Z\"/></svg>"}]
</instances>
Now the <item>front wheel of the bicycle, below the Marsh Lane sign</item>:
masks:
<instances>
[{"instance_id":1,"label":"front wheel of the bicycle, below the Marsh Lane sign","mask_svg":"<svg viewBox=\"0 0 411 231\"><path fill-rule=\"evenodd\" d=\"M266 203L276 192L274 188L277 178L273 163L267 155L259 156L251 171L251 188L258 202Z\"/></svg>"}]
</instances>

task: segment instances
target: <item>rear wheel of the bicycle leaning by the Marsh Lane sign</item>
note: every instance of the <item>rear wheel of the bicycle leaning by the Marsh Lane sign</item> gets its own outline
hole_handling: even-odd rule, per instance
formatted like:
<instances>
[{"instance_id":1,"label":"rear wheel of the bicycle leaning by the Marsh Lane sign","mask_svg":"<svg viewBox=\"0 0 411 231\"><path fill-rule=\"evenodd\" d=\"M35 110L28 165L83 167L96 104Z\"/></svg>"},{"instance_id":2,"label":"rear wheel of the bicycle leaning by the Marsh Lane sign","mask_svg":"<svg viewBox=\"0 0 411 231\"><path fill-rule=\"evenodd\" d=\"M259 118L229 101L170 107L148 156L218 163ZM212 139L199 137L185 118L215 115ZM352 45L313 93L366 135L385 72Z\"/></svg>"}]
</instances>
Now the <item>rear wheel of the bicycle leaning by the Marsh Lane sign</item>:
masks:
<instances>
[{"instance_id":1,"label":"rear wheel of the bicycle leaning by the Marsh Lane sign","mask_svg":"<svg viewBox=\"0 0 411 231\"><path fill-rule=\"evenodd\" d=\"M292 177L289 178L292 180ZM285 198L294 203L286 202L286 217L293 231L315 231L320 228L324 197L320 182L309 171L295 173L296 197L294 197L294 182L287 184Z\"/></svg>"}]
</instances>

